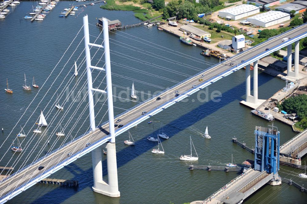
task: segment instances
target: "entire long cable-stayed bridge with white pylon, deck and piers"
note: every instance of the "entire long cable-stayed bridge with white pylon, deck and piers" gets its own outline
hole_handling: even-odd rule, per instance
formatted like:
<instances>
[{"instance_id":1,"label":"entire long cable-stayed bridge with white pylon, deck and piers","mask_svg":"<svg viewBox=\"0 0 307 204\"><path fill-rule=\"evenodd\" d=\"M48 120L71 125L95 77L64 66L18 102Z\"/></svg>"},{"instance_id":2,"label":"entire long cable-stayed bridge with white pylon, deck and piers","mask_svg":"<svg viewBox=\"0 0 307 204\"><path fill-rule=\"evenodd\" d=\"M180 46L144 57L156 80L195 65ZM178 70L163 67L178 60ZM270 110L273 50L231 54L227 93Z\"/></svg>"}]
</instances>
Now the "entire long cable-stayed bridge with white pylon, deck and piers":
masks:
<instances>
[{"instance_id":1,"label":"entire long cable-stayed bridge with white pylon, deck and piers","mask_svg":"<svg viewBox=\"0 0 307 204\"><path fill-rule=\"evenodd\" d=\"M88 106L90 108L90 131L84 133L83 135L74 138L70 142L63 144L60 148L49 152L46 156L34 161L33 163L22 167L13 175L3 179L0 182L0 203L4 203L7 200L13 198L18 195L22 191L25 191L29 187L33 186L35 183L40 181L43 178L48 177L52 173L58 171L62 167L72 163L79 157L85 155L88 152L92 152L93 158L93 170L94 170L94 187L93 190L102 194L106 194L112 197L119 196L118 184L117 184L117 169L116 169L116 153L115 153L115 136L125 132L129 128L141 123L142 121L148 119L149 117L161 112L167 107L181 101L182 99L188 97L189 95L196 93L197 91L207 87L208 85L222 79L223 77L230 75L234 71L251 64L257 62L258 59L279 50L289 44L296 43L301 38L307 36L307 26L306 24L296 27L292 30L287 31L286 33L282 33L270 40L267 40L257 46L248 49L245 52L239 53L231 57L230 59L223 61L219 64L216 64L207 70L204 70L178 84L173 87L170 87L160 94L153 96L152 98L138 104L137 106L132 107L129 110L126 110L124 113L119 114L118 116L113 116L113 105L111 100L112 91L111 91L111 73L106 74L107 79L107 90L99 90L93 89L91 85L91 70L99 70L99 71L108 71L110 68L110 57L107 54L108 50L108 30L104 28L104 45L97 45L95 43L90 43L88 41L89 34L87 29L87 16L85 17L84 23L84 33L85 33L85 52L86 52L86 64L87 69L87 83L89 91L89 103ZM79 31L80 32L80 31ZM282 42L282 38L290 37L290 40L286 42ZM89 53L89 48L103 48L105 51L105 68L92 66L91 65L91 57ZM270 48L266 50L266 48ZM101 58L100 58L101 59ZM234 65L230 66L230 63L234 63ZM257 64L257 63L256 63ZM255 69L257 68L255 66ZM249 79L249 69L247 69L247 80ZM202 75L204 75L202 77ZM255 75L255 71L254 71ZM108 81L109 78L109 81ZM202 79L202 80L200 80ZM255 80L255 77L254 77ZM90 83L89 83L90 82ZM247 83L248 84L248 83ZM258 86L254 81L254 98L255 97L255 86ZM248 90L248 87L247 87ZM108 96L108 112L109 121L95 126L95 115L93 111L93 98L92 92L98 91L103 94L110 94ZM178 96L175 96L175 91L178 91ZM247 92L247 96L250 93ZM258 95L258 93L257 93ZM110 97L111 96L111 97ZM161 98L157 100L157 98ZM248 97L247 97L248 98ZM254 100L256 103L257 100ZM92 106L92 107L91 107ZM110 107L111 106L111 107ZM146 112L142 114L143 112ZM77 117L77 116L76 116ZM117 119L121 119L121 123L124 124L123 127L119 129L114 129L114 121ZM111 128L110 128L111 127ZM91 143L89 146L86 144ZM102 180L102 170L101 170L101 151L99 146L108 142L107 145L107 163L108 163L108 181L109 183L105 183ZM67 156L71 153L70 156ZM100 156L99 156L100 154ZM39 166L44 166L43 170L38 170Z\"/></svg>"}]
</instances>

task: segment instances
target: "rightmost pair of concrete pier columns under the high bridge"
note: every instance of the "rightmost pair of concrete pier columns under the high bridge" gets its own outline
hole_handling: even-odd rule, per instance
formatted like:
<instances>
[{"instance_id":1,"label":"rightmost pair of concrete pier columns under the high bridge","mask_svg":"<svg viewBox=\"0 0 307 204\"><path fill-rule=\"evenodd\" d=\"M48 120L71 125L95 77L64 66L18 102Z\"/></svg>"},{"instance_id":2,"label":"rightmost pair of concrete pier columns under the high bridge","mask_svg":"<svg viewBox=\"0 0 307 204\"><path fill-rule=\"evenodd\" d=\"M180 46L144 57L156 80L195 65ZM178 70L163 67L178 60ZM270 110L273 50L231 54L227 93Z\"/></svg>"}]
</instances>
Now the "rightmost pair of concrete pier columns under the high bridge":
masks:
<instances>
[{"instance_id":1,"label":"rightmost pair of concrete pier columns under the high bridge","mask_svg":"<svg viewBox=\"0 0 307 204\"><path fill-rule=\"evenodd\" d=\"M292 71L292 44L287 46L287 76L298 78L298 64L299 64L299 53L300 53L300 41L294 42L294 71Z\"/></svg>"}]
</instances>

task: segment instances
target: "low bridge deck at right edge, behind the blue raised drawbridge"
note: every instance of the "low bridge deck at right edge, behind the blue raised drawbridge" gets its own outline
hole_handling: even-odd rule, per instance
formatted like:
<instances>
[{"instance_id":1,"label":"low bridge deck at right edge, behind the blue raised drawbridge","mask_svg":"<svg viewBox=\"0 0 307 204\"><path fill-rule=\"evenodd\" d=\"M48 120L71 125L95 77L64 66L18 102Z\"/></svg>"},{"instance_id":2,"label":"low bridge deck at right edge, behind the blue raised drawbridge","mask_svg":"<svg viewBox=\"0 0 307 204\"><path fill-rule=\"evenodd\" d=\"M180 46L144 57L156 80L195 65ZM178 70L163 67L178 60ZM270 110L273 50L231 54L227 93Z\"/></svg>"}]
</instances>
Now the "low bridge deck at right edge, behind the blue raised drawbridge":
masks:
<instances>
[{"instance_id":1,"label":"low bridge deck at right edge, behind the blue raised drawbridge","mask_svg":"<svg viewBox=\"0 0 307 204\"><path fill-rule=\"evenodd\" d=\"M307 129L297 134L291 140L280 146L279 152L285 156L295 156L300 158L305 155L307 148Z\"/></svg>"}]
</instances>

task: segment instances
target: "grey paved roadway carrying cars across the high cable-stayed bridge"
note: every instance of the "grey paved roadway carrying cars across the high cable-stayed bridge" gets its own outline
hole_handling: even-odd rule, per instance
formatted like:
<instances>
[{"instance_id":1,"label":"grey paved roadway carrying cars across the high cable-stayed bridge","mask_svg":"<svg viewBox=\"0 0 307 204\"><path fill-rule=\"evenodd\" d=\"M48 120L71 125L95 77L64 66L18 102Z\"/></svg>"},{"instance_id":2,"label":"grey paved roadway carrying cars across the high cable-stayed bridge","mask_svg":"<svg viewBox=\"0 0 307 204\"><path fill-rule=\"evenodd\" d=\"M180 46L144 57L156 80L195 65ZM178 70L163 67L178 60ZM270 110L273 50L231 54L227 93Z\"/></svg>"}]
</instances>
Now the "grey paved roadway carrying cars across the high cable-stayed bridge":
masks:
<instances>
[{"instance_id":1,"label":"grey paved roadway carrying cars across the high cable-stayed bridge","mask_svg":"<svg viewBox=\"0 0 307 204\"><path fill-rule=\"evenodd\" d=\"M294 31L292 31L291 33L286 34L286 36L281 36L279 38L273 39L272 41L270 41L270 43L268 44L262 44L261 46L258 46L257 48L254 48L252 51L250 52L245 52L239 56L234 56L234 59L238 61L238 63L241 60L248 60L251 59L252 57L257 56L258 54L262 53L263 51L265 51L266 48L271 48L274 47L280 43L282 43L282 38L283 37L296 37L297 35L300 35L302 33L306 33L307 32L307 26L303 26L301 28L298 28ZM190 89L192 89L193 85L200 85L203 84L205 81L214 78L215 76L223 73L224 71L227 71L228 69L231 68L231 66L229 66L228 64L230 64L229 62L224 65L221 64L217 67L215 67L214 69L207 71L204 74L204 77L196 77L188 82L183 83L182 85L180 85L179 87L177 87L174 90L169 90L168 92L165 92L163 95L161 95L161 100L153 100L150 102L147 102L145 104L143 104L141 107L132 110L130 113L122 116L120 119L122 119L122 121L120 122L120 124L128 124L130 121L133 121L134 119L137 119L138 117L141 116L141 113L143 111L149 112L151 110L154 110L157 106L161 106L162 104L164 104L165 102L168 102L169 100L175 98L175 90L179 91L179 94L184 93ZM201 74L200 74L201 75ZM199 82L199 79L203 79L203 81ZM21 172L18 175L15 175L13 179L7 180L6 182L3 182L0 184L0 197L6 195L7 193L14 191L14 189L16 187L21 186L24 183L27 183L30 179L35 178L37 175L41 174L42 171L46 171L49 168L53 167L54 165L60 163L61 161L65 160L67 157L68 153L76 153L79 152L80 150L83 150L83 148L85 147L85 144L87 144L88 142L95 142L98 141L100 139L102 139L103 137L105 137L108 134L108 124L102 127L104 129L104 131L101 130L97 130L92 134L89 134L85 137L83 137L81 140L77 140L75 141L73 144L71 144L70 146L62 149L59 152L56 152L55 154L46 157L44 160L42 160L40 163L32 166L31 168L29 168L27 171ZM37 168L39 166L45 166L45 168L41 171L39 171Z\"/></svg>"}]
</instances>

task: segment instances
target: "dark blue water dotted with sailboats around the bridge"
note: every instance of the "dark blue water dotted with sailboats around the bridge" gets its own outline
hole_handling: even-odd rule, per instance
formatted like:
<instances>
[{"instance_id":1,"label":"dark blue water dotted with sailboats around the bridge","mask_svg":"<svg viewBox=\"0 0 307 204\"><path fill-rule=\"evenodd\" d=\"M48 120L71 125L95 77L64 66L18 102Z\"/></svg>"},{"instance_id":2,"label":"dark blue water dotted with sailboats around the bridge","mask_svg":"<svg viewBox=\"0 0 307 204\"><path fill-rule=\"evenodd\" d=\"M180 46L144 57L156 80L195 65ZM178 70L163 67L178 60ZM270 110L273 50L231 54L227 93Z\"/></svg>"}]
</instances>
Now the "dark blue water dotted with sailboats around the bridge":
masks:
<instances>
[{"instance_id":1,"label":"dark blue water dotted with sailboats around the bridge","mask_svg":"<svg viewBox=\"0 0 307 204\"><path fill-rule=\"evenodd\" d=\"M2 144L0 152L1 155L5 154L0 161L0 166L8 163L15 168L22 167L35 160L36 155L43 156L49 148L58 148L60 144L70 140L68 136L70 133L72 137L76 137L87 131L89 124L86 109L87 97L86 90L83 89L86 81L82 75L85 68L85 64L82 65L84 54L78 59L84 48L84 42L81 41L83 30L77 35L82 27L82 17L88 15L91 24L89 25L91 42L94 42L101 33L101 29L95 26L100 17L107 17L110 20L119 19L125 25L139 22L132 12L102 10L99 5L81 8L75 16L59 18L61 10L72 3L75 2L59 2L43 22L30 22L22 17L29 12L35 2L22 2L5 20L0 21L2 48L0 84L4 89L6 78L8 78L10 88L14 91L13 94L2 93L0 96L2 105L0 126L4 128L4 133L0 134ZM63 56L74 37L76 39ZM97 39L97 44L102 43L101 38L102 35ZM186 46L180 43L177 37L161 32L155 27L148 29L139 26L111 32L110 49L113 94L116 96L113 98L115 115L137 104L137 102L121 99L129 98L129 88L132 82L136 90L140 91L138 98L142 101L149 98L151 94L171 87L218 62L214 58L201 56L200 48ZM96 51L97 49L93 48L91 55L94 56ZM93 57L92 64L98 63L97 66L103 66L104 57L102 55L103 51L98 50ZM62 56L63 59L59 62ZM69 60L70 56L72 57ZM76 79L70 80L75 60L78 64L79 75ZM33 76L39 86L45 83L39 93L37 89L32 89L31 92L22 90L24 73L28 85L31 85ZM93 72L93 79L97 77L93 87L105 88L103 76L103 73ZM66 84L69 82L71 82L69 88L66 89ZM259 74L259 98L269 98L283 86L284 81L266 74ZM71 90L74 91L69 94ZM212 93L220 93L222 97L217 99L221 100L211 101ZM60 97L60 103L65 103L62 112L53 110L57 94ZM107 120L107 114L105 115L107 107L103 106L106 97L102 96L99 99L100 96L101 94L94 96L97 102L95 106L96 125L100 121ZM35 100L33 100L34 97ZM44 99L40 102L42 98ZM85 101L80 103L83 98ZM153 133L152 125L142 123L130 129L136 141L135 146L127 147L123 144L123 140L128 137L127 133L118 136L116 148L120 198L109 198L91 190L93 183L91 154L88 154L50 176L57 179L76 179L79 181L79 188L38 184L8 203L174 202L180 204L207 198L237 174L223 171L189 171L188 164L180 162L178 157L189 153L189 136L191 135L199 156L197 163L200 165L209 163L224 165L231 159L231 153L236 163L253 159L252 154L232 144L231 137L235 136L252 147L255 143L253 135L255 125L267 126L269 123L251 115L250 109L240 106L239 101L244 98L245 73L244 70L239 70L210 85L200 94L192 95L186 102L180 102L152 117L154 131L157 133L162 124L164 132L170 137L162 141L165 150L163 156L153 155L150 152L156 146L155 143L146 140L146 137ZM31 105L26 110L30 103ZM30 133L39 117L40 110L44 111L50 125L48 129L45 129L44 137L32 137ZM77 110L76 115L74 115L74 110ZM22 114L24 116L18 122ZM74 117L70 118L71 116ZM56 138L54 135L54 132L59 130L56 126L59 122L67 137ZM15 124L17 126L14 128ZM19 132L19 125L25 126L25 132L30 133L25 139L21 139L25 150L24 155L18 156L13 155L9 148ZM289 126L279 122L274 122L274 125L281 131L281 143L295 135ZM209 128L211 140L201 137L206 126ZM47 140L50 140L50 146L46 146ZM37 141L40 141L38 145L36 145ZM34 148L36 146L38 147ZM33 155L28 159L26 156L29 153ZM12 160L10 160L11 157ZM19 161L14 163L15 160ZM24 163L25 160L27 162ZM107 179L106 163L103 164L104 179ZM290 167L281 167L280 170L281 176L292 178L301 184L306 183L297 178L299 173L300 170ZM304 196L287 184L280 187L265 186L248 198L246 203L303 203Z\"/></svg>"}]
</instances>

